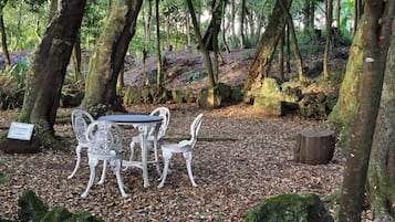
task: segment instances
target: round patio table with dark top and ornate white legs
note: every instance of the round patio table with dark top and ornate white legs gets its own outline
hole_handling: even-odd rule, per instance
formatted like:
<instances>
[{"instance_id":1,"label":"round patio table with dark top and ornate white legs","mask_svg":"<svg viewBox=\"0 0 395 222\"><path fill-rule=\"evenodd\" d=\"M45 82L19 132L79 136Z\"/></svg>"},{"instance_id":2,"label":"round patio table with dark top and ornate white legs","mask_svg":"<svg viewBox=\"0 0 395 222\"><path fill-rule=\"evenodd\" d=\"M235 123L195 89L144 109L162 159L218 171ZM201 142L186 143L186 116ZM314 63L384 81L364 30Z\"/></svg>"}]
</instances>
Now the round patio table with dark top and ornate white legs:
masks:
<instances>
[{"instance_id":1,"label":"round patio table with dark top and ornate white legs","mask_svg":"<svg viewBox=\"0 0 395 222\"><path fill-rule=\"evenodd\" d=\"M102 116L100 120L114 121L118 125L132 125L142 135L142 161L128 161L123 160L122 165L125 167L138 167L143 169L144 188L149 186L148 181L148 150L147 150L147 136L153 127L156 127L163 120L162 116L150 115L108 115ZM157 140L154 141L154 146L157 146Z\"/></svg>"}]
</instances>

